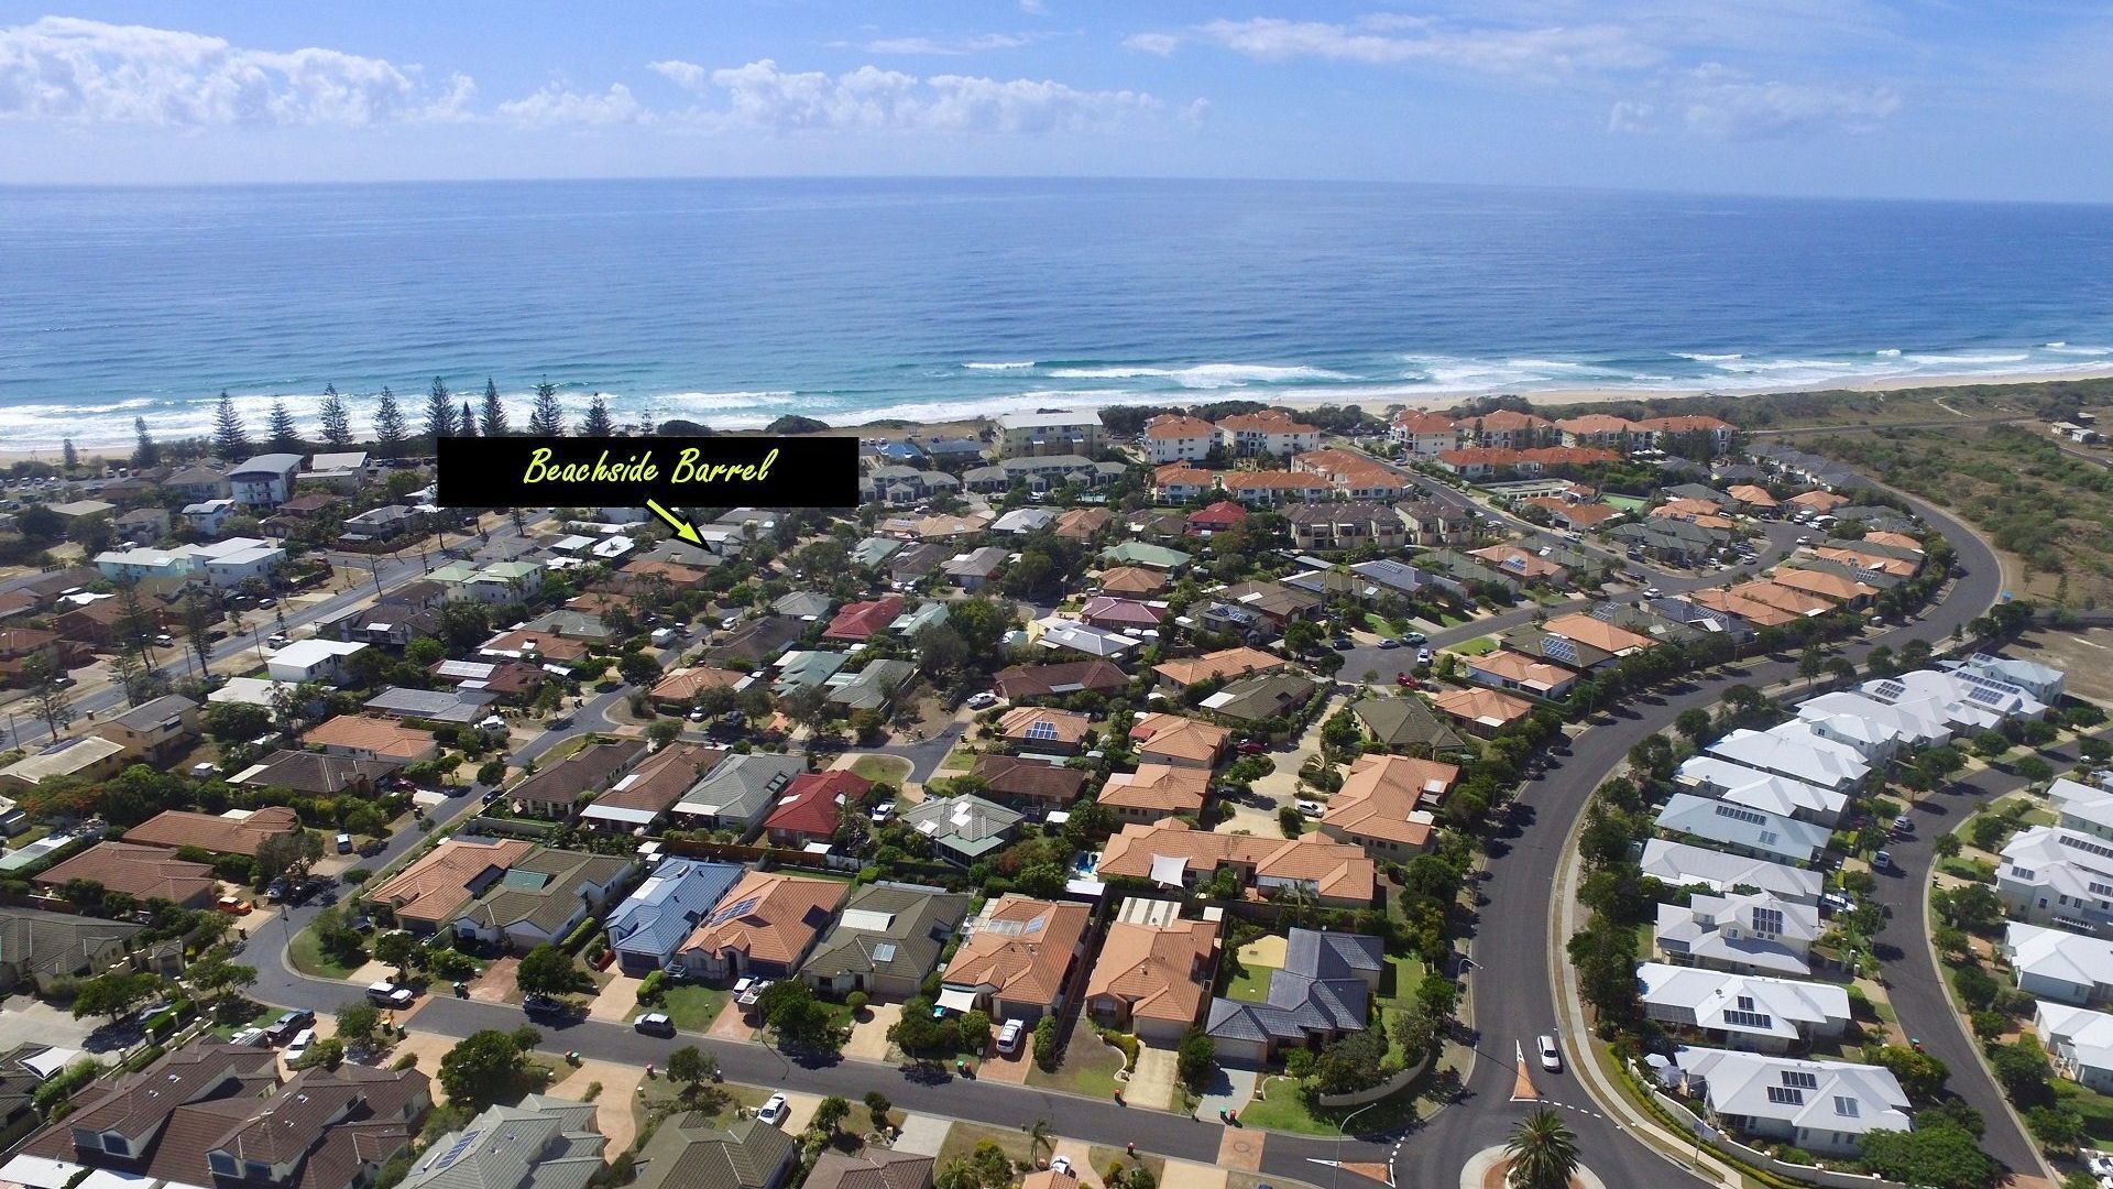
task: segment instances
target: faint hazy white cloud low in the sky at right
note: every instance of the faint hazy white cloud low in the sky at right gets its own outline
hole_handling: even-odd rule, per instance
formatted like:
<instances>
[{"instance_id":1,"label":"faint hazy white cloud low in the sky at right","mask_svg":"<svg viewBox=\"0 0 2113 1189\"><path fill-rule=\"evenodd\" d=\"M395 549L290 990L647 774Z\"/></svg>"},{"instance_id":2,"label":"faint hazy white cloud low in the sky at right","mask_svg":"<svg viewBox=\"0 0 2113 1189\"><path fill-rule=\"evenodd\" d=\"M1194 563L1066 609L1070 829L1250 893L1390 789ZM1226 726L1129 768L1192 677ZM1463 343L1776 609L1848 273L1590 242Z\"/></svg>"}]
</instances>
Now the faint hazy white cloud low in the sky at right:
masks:
<instances>
[{"instance_id":1,"label":"faint hazy white cloud low in the sky at right","mask_svg":"<svg viewBox=\"0 0 2113 1189\"><path fill-rule=\"evenodd\" d=\"M1665 110L1688 131L1718 140L1777 140L1828 129L1866 133L1902 106L1891 87L1756 80L1716 61L1663 78L1657 93L1659 99L1616 102L1608 131L1654 131L1652 116Z\"/></svg>"}]
</instances>

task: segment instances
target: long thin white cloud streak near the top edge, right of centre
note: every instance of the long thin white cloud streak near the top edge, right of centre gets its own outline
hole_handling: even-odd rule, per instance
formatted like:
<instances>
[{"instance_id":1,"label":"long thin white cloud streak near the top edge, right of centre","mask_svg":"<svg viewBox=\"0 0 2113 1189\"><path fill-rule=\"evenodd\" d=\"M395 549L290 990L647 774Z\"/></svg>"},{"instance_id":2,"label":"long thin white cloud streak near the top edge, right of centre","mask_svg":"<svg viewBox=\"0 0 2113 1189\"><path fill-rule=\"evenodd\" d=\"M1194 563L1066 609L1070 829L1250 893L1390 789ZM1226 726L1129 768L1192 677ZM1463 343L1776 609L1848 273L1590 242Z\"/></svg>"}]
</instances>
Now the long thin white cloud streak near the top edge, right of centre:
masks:
<instances>
[{"instance_id":1,"label":"long thin white cloud streak near the top edge, right of centre","mask_svg":"<svg viewBox=\"0 0 2113 1189\"><path fill-rule=\"evenodd\" d=\"M1547 78L1578 70L1638 70L1663 53L1619 25L1458 28L1426 17L1380 13L1352 23L1251 17L1209 21L1190 32L1261 61L1321 57L1365 66L1433 61L1485 74ZM1133 49L1171 53L1175 34L1137 34Z\"/></svg>"}]
</instances>

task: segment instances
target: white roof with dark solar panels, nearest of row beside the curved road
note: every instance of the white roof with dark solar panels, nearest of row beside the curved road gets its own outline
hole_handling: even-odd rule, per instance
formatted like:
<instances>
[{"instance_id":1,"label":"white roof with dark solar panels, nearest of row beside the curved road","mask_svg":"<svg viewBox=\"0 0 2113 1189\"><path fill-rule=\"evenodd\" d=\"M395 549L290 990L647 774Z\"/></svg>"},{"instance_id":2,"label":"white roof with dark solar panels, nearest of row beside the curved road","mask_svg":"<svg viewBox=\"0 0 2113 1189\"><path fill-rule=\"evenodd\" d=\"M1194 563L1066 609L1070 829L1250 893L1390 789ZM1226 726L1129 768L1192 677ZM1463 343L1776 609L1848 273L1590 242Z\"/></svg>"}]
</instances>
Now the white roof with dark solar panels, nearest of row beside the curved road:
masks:
<instances>
[{"instance_id":1,"label":"white roof with dark solar panels, nearest of row beside the curved road","mask_svg":"<svg viewBox=\"0 0 2113 1189\"><path fill-rule=\"evenodd\" d=\"M1777 1119L1815 1132L1906 1132L1908 1094L1874 1064L1815 1062L1731 1049L1680 1049L1673 1064L1705 1083L1714 1115Z\"/></svg>"}]
</instances>

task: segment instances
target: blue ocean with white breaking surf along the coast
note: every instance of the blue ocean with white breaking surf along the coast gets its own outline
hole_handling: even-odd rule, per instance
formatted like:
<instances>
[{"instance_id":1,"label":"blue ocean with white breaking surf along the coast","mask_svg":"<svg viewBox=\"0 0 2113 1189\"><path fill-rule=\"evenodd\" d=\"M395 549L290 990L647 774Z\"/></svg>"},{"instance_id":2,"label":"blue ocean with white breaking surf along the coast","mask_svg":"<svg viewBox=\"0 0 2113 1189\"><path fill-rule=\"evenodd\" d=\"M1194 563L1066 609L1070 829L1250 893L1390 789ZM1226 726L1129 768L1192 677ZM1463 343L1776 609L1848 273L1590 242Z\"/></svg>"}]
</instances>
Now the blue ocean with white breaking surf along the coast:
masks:
<instances>
[{"instance_id":1,"label":"blue ocean with white breaking surf along the coast","mask_svg":"<svg viewBox=\"0 0 2113 1189\"><path fill-rule=\"evenodd\" d=\"M619 421L2113 368L2113 207L1319 182L0 190L0 442L355 417L433 377ZM518 415L518 419L524 413Z\"/></svg>"}]
</instances>

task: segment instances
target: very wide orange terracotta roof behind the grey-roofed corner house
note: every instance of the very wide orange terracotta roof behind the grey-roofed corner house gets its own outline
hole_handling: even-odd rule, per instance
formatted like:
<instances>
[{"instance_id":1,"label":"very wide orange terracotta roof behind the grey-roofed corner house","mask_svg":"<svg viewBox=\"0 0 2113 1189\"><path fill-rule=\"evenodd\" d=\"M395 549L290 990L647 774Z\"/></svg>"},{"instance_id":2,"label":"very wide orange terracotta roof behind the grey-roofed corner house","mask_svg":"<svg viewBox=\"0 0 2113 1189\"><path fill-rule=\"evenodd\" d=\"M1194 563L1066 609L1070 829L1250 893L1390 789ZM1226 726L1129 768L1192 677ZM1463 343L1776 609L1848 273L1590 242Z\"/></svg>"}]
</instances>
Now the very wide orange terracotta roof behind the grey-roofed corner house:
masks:
<instances>
[{"instance_id":1,"label":"very wide orange terracotta roof behind the grey-roofed corner house","mask_svg":"<svg viewBox=\"0 0 2113 1189\"><path fill-rule=\"evenodd\" d=\"M1255 838L1194 829L1181 819L1124 825L1101 853L1099 874L1152 880L1162 889L1194 891L1232 867L1251 897L1302 889L1314 903L1369 908L1378 867L1357 846L1304 838Z\"/></svg>"}]
</instances>

